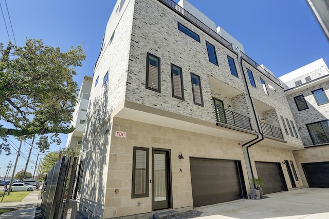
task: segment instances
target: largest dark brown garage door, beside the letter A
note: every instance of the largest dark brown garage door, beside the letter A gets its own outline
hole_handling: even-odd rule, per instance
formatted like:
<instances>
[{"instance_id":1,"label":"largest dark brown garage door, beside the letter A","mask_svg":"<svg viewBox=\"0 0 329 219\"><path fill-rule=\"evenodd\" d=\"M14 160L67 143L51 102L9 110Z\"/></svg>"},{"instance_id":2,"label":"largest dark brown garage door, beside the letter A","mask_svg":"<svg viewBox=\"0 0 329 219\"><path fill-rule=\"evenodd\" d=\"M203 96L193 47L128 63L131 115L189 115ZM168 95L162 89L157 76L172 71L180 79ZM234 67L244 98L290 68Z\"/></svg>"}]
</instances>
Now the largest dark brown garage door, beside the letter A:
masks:
<instances>
[{"instance_id":1,"label":"largest dark brown garage door, beside the letter A","mask_svg":"<svg viewBox=\"0 0 329 219\"><path fill-rule=\"evenodd\" d=\"M246 197L240 161L190 158L193 206Z\"/></svg>"}]
</instances>

